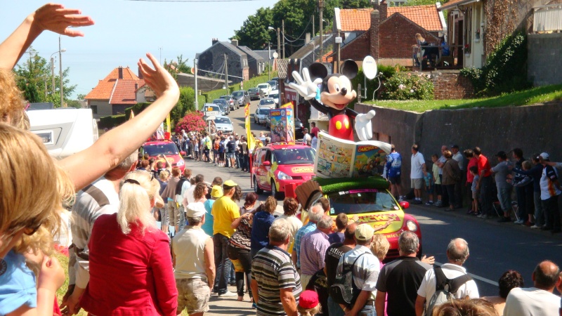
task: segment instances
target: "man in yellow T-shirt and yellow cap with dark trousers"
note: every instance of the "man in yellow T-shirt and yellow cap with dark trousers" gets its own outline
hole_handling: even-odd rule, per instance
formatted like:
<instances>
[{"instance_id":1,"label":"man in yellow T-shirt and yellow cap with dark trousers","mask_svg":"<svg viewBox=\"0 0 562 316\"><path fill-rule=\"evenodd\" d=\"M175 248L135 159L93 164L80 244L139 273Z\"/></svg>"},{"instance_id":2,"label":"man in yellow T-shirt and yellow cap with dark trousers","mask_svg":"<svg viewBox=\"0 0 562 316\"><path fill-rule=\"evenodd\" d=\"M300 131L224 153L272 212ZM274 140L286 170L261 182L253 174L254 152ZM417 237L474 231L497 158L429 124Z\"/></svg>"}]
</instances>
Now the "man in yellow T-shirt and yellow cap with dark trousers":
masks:
<instances>
[{"instance_id":1,"label":"man in yellow T-shirt and yellow cap with dark trousers","mask_svg":"<svg viewBox=\"0 0 562 316\"><path fill-rule=\"evenodd\" d=\"M230 297L237 294L228 291L228 279L230 277L230 262L228 261L228 239L233 235L234 229L231 227L233 221L240 217L240 208L233 201L232 197L237 184L233 180L226 180L223 183L223 196L217 199L211 209L213 216L213 241L215 247L215 266L223 267L218 274L218 296Z\"/></svg>"}]
</instances>

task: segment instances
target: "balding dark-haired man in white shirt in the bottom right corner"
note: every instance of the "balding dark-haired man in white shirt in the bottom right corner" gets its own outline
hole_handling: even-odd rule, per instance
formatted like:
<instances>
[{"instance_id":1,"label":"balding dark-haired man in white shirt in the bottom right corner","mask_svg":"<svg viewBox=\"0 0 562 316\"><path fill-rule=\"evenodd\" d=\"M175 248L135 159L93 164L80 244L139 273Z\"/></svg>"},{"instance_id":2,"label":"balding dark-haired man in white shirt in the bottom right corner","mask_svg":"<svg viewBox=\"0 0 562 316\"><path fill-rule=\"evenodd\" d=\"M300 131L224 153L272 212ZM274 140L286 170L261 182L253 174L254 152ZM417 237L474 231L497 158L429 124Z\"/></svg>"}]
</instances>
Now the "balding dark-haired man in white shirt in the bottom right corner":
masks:
<instances>
[{"instance_id":1,"label":"balding dark-haired man in white shirt in the bottom right corner","mask_svg":"<svg viewBox=\"0 0 562 316\"><path fill-rule=\"evenodd\" d=\"M505 316L556 315L560 296L553 294L560 286L560 268L552 261L542 261L531 275L534 287L511 289L505 301Z\"/></svg>"}]
</instances>

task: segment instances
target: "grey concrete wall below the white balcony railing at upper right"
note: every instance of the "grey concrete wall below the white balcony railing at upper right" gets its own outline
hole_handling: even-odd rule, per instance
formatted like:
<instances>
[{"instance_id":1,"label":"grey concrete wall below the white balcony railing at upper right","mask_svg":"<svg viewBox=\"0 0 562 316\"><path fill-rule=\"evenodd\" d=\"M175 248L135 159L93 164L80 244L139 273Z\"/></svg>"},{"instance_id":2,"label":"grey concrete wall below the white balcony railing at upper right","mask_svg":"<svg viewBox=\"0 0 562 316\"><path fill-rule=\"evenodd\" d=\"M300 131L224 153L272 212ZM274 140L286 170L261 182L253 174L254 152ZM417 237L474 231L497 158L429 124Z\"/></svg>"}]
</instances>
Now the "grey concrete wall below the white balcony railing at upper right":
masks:
<instances>
[{"instance_id":1,"label":"grey concrete wall below the white balcony railing at upper right","mask_svg":"<svg viewBox=\"0 0 562 316\"><path fill-rule=\"evenodd\" d=\"M562 33L529 34L528 78L535 86L562 84Z\"/></svg>"}]
</instances>

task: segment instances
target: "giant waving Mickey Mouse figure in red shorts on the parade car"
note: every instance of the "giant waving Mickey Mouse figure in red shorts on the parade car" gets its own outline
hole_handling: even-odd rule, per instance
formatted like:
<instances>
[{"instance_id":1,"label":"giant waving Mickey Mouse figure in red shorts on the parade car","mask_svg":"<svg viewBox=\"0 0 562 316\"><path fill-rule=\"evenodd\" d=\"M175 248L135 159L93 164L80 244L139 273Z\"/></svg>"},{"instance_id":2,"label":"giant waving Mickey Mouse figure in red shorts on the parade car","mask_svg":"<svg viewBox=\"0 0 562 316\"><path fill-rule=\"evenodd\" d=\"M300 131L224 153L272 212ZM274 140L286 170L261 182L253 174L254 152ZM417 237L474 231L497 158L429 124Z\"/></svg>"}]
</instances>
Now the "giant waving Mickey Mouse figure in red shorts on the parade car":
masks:
<instances>
[{"instance_id":1,"label":"giant waving Mickey Mouse figure in red shorts on the parade car","mask_svg":"<svg viewBox=\"0 0 562 316\"><path fill-rule=\"evenodd\" d=\"M374 110L370 110L366 114L359 114L347 107L357 96L351 86L351 79L357 75L358 65L353 60L346 60L341 65L340 74L330 75L328 75L326 67L319 62L315 62L309 69L303 68L303 77L299 72L293 72L296 83L290 83L289 86L298 91L316 110L328 115L329 135L353 141L350 121L355 119L355 131L357 131L359 139L370 140L373 136L371 119L374 117ZM311 75L316 78L314 81L311 80ZM322 103L315 99L320 83L322 83L320 88Z\"/></svg>"}]
</instances>

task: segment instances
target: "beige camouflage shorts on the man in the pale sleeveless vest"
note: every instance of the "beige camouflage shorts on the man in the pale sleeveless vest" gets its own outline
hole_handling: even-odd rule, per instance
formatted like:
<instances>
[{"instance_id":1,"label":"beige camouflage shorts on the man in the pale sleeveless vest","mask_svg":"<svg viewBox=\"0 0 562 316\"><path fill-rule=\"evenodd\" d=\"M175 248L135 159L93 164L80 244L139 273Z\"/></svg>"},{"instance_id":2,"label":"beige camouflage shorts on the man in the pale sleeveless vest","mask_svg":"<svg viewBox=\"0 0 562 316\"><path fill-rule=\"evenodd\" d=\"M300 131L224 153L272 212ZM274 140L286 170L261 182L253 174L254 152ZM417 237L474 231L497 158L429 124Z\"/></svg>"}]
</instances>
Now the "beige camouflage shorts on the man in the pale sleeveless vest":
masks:
<instances>
[{"instance_id":1,"label":"beige camouflage shorts on the man in the pale sleeveless vest","mask_svg":"<svg viewBox=\"0 0 562 316\"><path fill-rule=\"evenodd\" d=\"M203 279L176 279L178 288L178 312L185 308L188 314L209 311L211 289Z\"/></svg>"}]
</instances>

